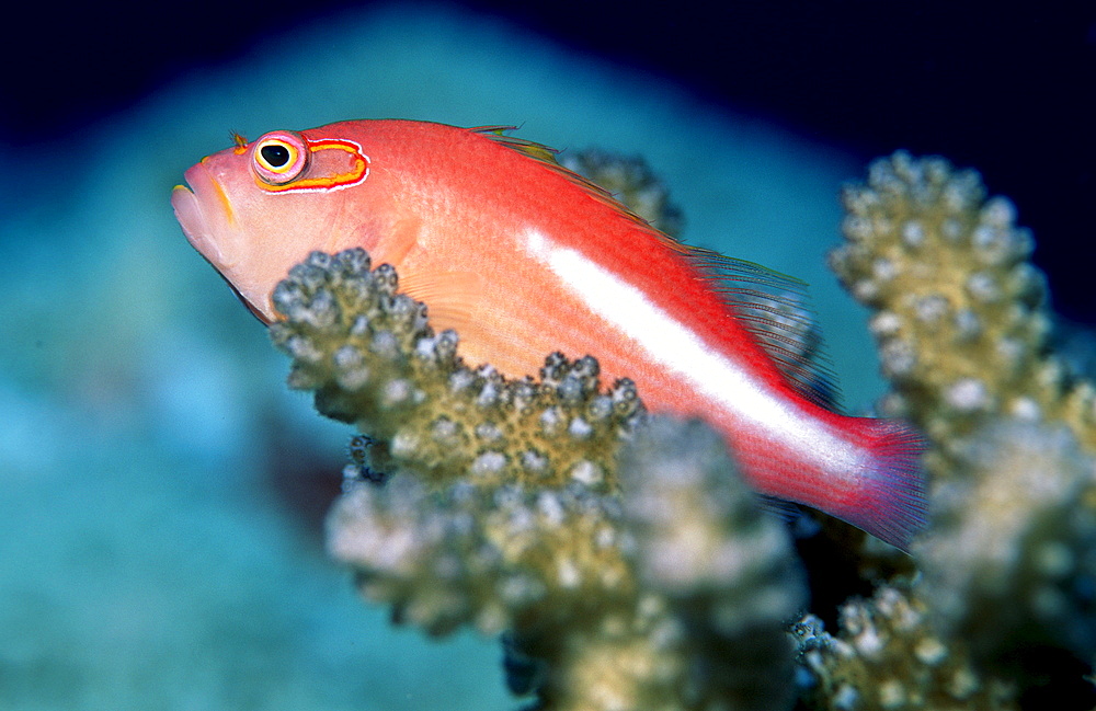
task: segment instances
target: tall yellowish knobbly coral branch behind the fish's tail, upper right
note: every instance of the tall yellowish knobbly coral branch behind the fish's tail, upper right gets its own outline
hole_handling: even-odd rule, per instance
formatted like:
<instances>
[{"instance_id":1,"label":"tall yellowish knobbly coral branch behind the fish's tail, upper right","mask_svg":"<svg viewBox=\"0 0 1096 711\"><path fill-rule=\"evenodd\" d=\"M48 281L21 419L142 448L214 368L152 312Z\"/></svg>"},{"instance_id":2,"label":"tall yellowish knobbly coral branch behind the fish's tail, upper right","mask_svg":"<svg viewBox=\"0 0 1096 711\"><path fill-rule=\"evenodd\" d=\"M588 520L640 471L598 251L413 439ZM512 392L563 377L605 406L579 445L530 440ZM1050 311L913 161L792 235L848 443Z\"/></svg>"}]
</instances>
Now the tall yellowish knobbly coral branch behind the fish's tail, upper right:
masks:
<instances>
[{"instance_id":1,"label":"tall yellowish knobbly coral branch behind the fish's tail, upper right","mask_svg":"<svg viewBox=\"0 0 1096 711\"><path fill-rule=\"evenodd\" d=\"M842 197L847 242L830 264L876 310L884 405L934 443L935 478L961 472L952 445L994 416L1061 421L1096 448L1096 390L1048 353L1043 277L1008 200L986 199L973 171L903 152Z\"/></svg>"}]
</instances>

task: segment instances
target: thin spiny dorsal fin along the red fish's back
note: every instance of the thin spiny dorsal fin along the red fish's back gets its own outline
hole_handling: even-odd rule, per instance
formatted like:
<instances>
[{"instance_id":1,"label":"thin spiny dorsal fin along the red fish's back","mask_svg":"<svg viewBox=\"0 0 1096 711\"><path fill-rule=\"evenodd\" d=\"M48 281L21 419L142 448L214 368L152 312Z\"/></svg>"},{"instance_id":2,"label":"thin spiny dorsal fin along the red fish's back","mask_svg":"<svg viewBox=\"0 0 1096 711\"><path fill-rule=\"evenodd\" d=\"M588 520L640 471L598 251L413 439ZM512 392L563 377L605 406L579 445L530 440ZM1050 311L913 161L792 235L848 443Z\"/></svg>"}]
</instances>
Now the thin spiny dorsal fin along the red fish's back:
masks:
<instances>
[{"instance_id":1,"label":"thin spiny dorsal fin along the red fish's back","mask_svg":"<svg viewBox=\"0 0 1096 711\"><path fill-rule=\"evenodd\" d=\"M666 248L685 256L709 283L731 317L745 329L796 392L823 408L838 398L836 379L823 353L822 335L807 298L807 284L760 264L685 244L655 229L612 193L556 161L557 151L507 136L514 126L479 126L469 130L526 156L578 185L586 194L635 222Z\"/></svg>"}]
</instances>

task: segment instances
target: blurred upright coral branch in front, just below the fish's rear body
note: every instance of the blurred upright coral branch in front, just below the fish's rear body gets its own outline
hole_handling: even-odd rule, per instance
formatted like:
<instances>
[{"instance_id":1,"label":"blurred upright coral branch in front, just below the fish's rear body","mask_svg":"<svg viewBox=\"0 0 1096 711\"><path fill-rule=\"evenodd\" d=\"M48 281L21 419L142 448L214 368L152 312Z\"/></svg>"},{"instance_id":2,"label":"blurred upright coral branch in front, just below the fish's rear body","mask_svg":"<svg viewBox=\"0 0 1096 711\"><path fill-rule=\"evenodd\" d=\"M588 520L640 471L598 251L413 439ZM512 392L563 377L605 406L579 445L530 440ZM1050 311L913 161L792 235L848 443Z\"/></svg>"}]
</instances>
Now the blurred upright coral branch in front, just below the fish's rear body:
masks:
<instances>
[{"instance_id":1,"label":"blurred upright coral branch in front, just below the fish's rear body","mask_svg":"<svg viewBox=\"0 0 1096 711\"><path fill-rule=\"evenodd\" d=\"M794 697L786 623L807 603L806 580L776 517L757 506L722 438L700 422L654 420L621 452L636 574L669 599L687 631L699 706L781 708ZM755 704L744 699L755 699Z\"/></svg>"}]
</instances>

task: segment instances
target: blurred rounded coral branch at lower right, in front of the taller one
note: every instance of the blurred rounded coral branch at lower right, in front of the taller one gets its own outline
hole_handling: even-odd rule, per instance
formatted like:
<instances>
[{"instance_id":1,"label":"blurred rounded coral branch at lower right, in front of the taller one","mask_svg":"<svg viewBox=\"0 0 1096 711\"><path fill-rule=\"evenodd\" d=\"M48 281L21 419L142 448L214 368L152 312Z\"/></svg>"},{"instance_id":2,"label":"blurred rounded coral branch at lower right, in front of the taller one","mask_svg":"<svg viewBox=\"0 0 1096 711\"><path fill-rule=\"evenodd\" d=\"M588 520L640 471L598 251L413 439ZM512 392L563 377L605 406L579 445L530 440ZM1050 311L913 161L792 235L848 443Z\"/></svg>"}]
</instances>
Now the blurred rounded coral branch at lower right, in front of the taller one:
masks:
<instances>
[{"instance_id":1,"label":"blurred rounded coral branch at lower right, in front of the taller one","mask_svg":"<svg viewBox=\"0 0 1096 711\"><path fill-rule=\"evenodd\" d=\"M1096 653L1096 460L1064 426L1003 420L967 440L918 547L941 631L980 656L1019 644Z\"/></svg>"}]
</instances>

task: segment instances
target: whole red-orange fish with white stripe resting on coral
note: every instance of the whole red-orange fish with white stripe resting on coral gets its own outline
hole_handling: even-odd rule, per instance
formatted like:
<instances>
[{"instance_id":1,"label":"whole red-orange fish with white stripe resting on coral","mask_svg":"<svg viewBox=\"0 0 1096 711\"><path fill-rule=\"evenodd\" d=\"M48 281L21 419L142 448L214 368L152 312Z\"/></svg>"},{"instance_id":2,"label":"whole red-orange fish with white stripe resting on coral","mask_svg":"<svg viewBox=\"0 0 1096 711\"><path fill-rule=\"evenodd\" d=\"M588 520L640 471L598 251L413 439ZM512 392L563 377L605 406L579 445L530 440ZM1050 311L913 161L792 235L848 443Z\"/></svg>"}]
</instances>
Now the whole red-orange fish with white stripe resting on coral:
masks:
<instances>
[{"instance_id":1,"label":"whole red-orange fish with white stripe resting on coral","mask_svg":"<svg viewBox=\"0 0 1096 711\"><path fill-rule=\"evenodd\" d=\"M233 144L171 202L264 323L290 266L363 248L469 363L520 378L549 353L593 355L648 410L717 427L761 494L905 551L924 527L921 437L833 405L788 323L795 279L660 232L504 127L362 119Z\"/></svg>"}]
</instances>

